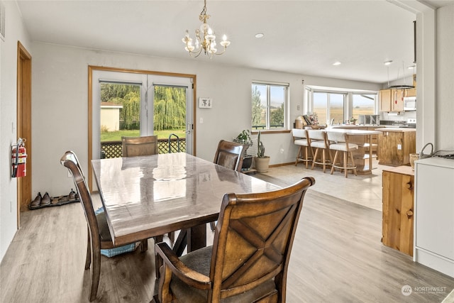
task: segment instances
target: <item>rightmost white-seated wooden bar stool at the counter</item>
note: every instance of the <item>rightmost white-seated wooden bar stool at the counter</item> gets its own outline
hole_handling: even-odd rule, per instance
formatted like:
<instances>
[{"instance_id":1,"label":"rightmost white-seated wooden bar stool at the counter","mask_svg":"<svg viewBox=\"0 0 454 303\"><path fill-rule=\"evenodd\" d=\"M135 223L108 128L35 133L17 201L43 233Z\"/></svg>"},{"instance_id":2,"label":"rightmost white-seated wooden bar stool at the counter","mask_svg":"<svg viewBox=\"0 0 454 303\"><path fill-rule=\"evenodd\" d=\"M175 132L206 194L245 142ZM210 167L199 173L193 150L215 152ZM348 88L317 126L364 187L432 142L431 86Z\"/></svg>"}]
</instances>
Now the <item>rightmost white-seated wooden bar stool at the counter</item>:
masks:
<instances>
[{"instance_id":1,"label":"rightmost white-seated wooden bar stool at the counter","mask_svg":"<svg viewBox=\"0 0 454 303\"><path fill-rule=\"evenodd\" d=\"M331 166L331 175L333 175L336 168L339 168L344 171L346 178L348 177L348 170L353 170L353 173L355 173L356 176L356 165L352 151L357 150L358 145L348 143L348 135L341 131L327 131L326 136L328 138L330 150L336 150ZM343 159L339 159L340 163L337 163L336 160L338 160L340 153L343 154Z\"/></svg>"}]
</instances>

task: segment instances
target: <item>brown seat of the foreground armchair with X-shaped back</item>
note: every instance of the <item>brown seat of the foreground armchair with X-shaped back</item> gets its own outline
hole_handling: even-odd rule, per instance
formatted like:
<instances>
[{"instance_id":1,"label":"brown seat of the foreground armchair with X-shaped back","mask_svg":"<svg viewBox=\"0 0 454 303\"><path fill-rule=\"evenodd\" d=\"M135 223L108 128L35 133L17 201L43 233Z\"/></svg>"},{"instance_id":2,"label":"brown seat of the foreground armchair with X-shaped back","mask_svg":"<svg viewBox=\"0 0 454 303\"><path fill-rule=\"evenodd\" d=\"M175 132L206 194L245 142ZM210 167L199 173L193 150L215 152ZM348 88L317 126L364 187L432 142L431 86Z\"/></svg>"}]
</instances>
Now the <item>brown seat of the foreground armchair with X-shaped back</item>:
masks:
<instances>
[{"instance_id":1,"label":"brown seat of the foreground armchair with X-shaped back","mask_svg":"<svg viewBox=\"0 0 454 303\"><path fill-rule=\"evenodd\" d=\"M192 270L196 270L196 272L209 276L212 251L212 246L201 248L192 253L188 253L187 255L183 255L180 260ZM179 302L206 303L208 299L207 290L198 290L195 287L190 287L179 280L175 275L172 276L170 289L177 296ZM221 302L254 302L256 299L264 297L265 294L269 294L270 292L277 292L274 280L262 283L248 292L221 299Z\"/></svg>"}]
</instances>

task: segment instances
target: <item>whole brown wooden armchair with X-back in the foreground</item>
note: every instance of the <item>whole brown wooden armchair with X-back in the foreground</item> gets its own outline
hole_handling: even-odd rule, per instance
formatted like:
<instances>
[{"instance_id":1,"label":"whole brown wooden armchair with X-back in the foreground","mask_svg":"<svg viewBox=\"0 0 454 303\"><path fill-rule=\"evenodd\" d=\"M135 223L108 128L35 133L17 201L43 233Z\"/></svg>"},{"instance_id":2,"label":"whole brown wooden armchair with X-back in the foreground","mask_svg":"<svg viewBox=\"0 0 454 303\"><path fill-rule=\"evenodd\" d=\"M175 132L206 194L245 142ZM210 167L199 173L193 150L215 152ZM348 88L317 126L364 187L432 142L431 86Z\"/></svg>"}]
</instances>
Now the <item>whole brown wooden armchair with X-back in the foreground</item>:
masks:
<instances>
[{"instance_id":1,"label":"whole brown wooden armchair with X-back in the foreground","mask_svg":"<svg viewBox=\"0 0 454 303\"><path fill-rule=\"evenodd\" d=\"M313 177L271 192L225 194L213 246L178 258L155 244L155 302L285 302L299 214ZM175 300L175 301L172 301Z\"/></svg>"}]
</instances>

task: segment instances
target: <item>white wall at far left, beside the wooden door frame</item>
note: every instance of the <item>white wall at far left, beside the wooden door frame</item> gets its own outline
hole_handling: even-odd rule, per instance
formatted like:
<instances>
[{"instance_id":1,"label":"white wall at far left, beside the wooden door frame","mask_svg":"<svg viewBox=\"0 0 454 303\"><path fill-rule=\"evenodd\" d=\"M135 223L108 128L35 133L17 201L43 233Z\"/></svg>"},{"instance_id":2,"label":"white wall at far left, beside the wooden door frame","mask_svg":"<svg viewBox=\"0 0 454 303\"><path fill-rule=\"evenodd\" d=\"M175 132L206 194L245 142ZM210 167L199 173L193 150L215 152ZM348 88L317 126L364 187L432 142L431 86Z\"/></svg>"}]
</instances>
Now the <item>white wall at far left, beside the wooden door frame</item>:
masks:
<instances>
[{"instance_id":1,"label":"white wall at far left, beside the wooden door frame","mask_svg":"<svg viewBox=\"0 0 454 303\"><path fill-rule=\"evenodd\" d=\"M4 1L5 40L0 39L0 258L17 230L16 179L11 178L11 145L16 138L17 42L29 50L15 1Z\"/></svg>"}]
</instances>

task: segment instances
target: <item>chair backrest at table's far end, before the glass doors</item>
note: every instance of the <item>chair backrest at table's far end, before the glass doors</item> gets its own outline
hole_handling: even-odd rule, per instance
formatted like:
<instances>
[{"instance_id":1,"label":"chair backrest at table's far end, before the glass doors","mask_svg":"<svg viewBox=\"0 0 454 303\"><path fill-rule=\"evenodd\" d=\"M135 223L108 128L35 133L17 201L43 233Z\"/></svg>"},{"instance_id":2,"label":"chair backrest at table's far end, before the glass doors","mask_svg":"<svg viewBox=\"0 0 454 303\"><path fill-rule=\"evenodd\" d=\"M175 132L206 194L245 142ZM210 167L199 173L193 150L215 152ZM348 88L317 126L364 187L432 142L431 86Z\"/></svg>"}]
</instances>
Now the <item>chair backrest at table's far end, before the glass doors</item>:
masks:
<instances>
[{"instance_id":1,"label":"chair backrest at table's far end, before the glass doors","mask_svg":"<svg viewBox=\"0 0 454 303\"><path fill-rule=\"evenodd\" d=\"M157 145L157 136L121 137L121 155L123 157L157 155Z\"/></svg>"}]
</instances>

